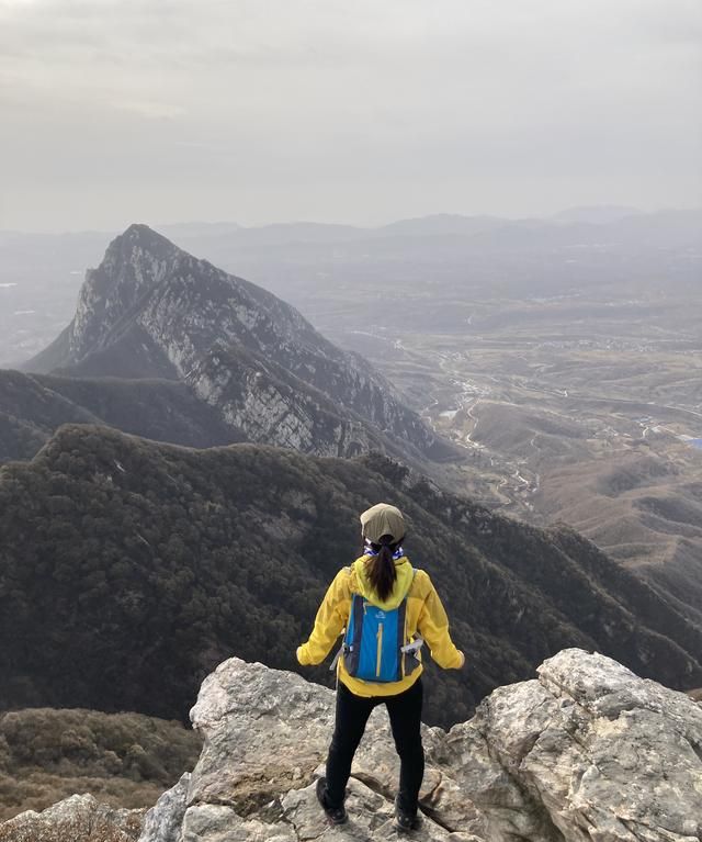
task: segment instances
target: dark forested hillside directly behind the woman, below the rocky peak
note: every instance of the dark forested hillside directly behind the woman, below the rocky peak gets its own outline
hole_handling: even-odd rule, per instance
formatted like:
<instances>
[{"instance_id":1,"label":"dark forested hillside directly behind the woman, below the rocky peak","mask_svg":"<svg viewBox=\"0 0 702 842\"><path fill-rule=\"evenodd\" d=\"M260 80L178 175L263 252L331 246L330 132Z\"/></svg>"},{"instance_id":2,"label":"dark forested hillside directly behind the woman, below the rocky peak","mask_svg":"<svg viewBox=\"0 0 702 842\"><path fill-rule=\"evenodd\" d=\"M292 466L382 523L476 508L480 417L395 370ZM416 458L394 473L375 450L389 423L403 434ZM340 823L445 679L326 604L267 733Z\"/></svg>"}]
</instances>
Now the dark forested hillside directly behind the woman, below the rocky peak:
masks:
<instances>
[{"instance_id":1,"label":"dark forested hillside directly behind the woman, below the rocky peak","mask_svg":"<svg viewBox=\"0 0 702 842\"><path fill-rule=\"evenodd\" d=\"M465 719L570 645L702 684L702 631L566 528L495 516L383 457L195 451L67 426L0 469L0 708L184 717L230 654L299 669L295 648L378 501L406 512L407 552L467 655L460 673L431 671L428 721Z\"/></svg>"}]
</instances>

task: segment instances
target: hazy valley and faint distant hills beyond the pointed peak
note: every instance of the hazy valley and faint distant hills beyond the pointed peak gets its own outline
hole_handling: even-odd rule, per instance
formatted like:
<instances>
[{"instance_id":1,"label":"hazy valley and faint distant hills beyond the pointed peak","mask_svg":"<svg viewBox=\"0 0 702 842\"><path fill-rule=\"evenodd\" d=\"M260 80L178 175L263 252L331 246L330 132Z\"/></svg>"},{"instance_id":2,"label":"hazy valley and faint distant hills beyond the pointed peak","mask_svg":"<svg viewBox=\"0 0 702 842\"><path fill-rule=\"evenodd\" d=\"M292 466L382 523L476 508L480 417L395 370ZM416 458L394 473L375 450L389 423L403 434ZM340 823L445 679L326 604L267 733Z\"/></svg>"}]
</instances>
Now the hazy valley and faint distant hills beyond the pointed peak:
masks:
<instances>
[{"instance_id":1,"label":"hazy valley and faint distant hills beyond the pointed peak","mask_svg":"<svg viewBox=\"0 0 702 842\"><path fill-rule=\"evenodd\" d=\"M658 577L698 620L701 232L699 212L597 225L446 216L380 229L168 231L395 383L456 447L428 469L439 483L534 525L570 524ZM54 249L68 285L69 267L97 247L94 234L73 236ZM4 249L29 277L25 246ZM8 348L11 336L5 359L22 351Z\"/></svg>"}]
</instances>

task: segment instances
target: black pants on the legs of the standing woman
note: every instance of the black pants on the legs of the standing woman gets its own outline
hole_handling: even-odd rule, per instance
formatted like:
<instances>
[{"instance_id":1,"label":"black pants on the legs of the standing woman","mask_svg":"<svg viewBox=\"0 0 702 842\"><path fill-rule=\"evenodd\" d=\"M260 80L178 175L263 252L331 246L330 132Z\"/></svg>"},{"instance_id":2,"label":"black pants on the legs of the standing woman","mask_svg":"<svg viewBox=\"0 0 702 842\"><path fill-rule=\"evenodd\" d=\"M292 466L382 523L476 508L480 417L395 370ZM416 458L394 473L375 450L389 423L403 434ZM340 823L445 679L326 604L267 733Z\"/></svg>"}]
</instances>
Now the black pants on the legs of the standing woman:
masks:
<instances>
[{"instance_id":1,"label":"black pants on the legs of the standing woman","mask_svg":"<svg viewBox=\"0 0 702 842\"><path fill-rule=\"evenodd\" d=\"M422 686L418 678L397 696L356 696L339 682L337 691L337 723L327 757L326 800L330 807L343 802L351 763L359 748L371 711L386 705L395 748L399 754L399 805L405 812L417 812L419 787L424 776L424 749L421 744Z\"/></svg>"}]
</instances>

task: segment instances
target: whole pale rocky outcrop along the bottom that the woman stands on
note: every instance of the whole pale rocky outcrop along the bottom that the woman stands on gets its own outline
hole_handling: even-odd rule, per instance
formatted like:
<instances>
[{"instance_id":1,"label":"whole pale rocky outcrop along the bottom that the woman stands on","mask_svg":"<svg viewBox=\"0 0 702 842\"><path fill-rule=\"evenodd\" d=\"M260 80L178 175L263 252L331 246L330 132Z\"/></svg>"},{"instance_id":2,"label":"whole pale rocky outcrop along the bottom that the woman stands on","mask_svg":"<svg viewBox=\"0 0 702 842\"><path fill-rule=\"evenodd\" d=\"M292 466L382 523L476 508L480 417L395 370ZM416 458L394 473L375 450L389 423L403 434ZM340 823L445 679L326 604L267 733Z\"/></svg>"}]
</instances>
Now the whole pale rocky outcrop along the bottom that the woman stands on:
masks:
<instances>
[{"instance_id":1,"label":"whole pale rocky outcrop along the bottom that the woman stands on","mask_svg":"<svg viewBox=\"0 0 702 842\"><path fill-rule=\"evenodd\" d=\"M376 709L349 785L349 823L329 827L314 781L333 693L238 659L210 675L192 709L205 745L192 774L147 813L139 842L388 840L398 761ZM495 691L468 722L424 728L422 819L439 842L699 842L702 707L598 653L563 650L531 681ZM80 799L0 826L2 842L54 840ZM93 808L94 809L94 808ZM132 817L133 818L133 817ZM137 839L115 813L72 842ZM116 835L116 832L123 835ZM68 839L67 837L64 837Z\"/></svg>"}]
</instances>

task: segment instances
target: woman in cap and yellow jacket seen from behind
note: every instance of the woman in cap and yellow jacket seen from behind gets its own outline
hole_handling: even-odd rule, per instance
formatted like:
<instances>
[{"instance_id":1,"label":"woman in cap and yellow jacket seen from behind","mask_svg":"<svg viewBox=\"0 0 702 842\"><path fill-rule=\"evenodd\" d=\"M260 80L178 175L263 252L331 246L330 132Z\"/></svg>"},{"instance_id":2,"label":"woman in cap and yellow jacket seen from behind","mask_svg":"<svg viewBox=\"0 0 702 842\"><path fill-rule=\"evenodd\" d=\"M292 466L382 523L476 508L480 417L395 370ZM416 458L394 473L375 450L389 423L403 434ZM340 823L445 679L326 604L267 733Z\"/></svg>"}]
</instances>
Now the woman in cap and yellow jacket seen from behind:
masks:
<instances>
[{"instance_id":1,"label":"woman in cap and yellow jacket seen from behind","mask_svg":"<svg viewBox=\"0 0 702 842\"><path fill-rule=\"evenodd\" d=\"M385 704L400 757L395 818L403 830L417 821L424 774L421 744L421 640L443 669L465 663L449 635L449 620L429 575L414 570L400 546L406 527L395 506L378 503L361 515L364 554L339 571L317 611L309 640L297 649L303 665L319 664L346 629L337 666L337 718L327 775L317 798L335 824L343 806L353 755L371 711Z\"/></svg>"}]
</instances>

